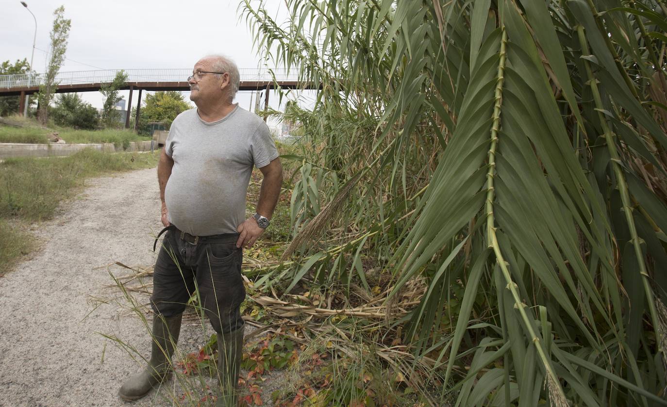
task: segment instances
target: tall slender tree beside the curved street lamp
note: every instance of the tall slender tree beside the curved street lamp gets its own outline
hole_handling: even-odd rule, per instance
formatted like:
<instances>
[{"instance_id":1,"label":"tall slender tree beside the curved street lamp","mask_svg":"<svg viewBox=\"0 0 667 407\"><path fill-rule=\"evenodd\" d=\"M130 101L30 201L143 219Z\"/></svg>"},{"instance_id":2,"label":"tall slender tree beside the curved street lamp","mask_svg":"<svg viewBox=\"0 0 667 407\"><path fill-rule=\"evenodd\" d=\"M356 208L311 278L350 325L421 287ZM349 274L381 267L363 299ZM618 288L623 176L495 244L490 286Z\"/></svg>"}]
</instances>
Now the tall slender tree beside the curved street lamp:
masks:
<instances>
[{"instance_id":1,"label":"tall slender tree beside the curved street lamp","mask_svg":"<svg viewBox=\"0 0 667 407\"><path fill-rule=\"evenodd\" d=\"M42 125L45 125L49 119L49 103L51 103L51 97L53 97L57 86L55 77L58 75L63 61L65 61L71 20L65 19L64 15L64 6L60 6L53 11L53 29L49 35L51 38L51 59L49 59L49 65L44 75L44 83L39 85L39 112L37 112L37 118Z\"/></svg>"}]
</instances>

